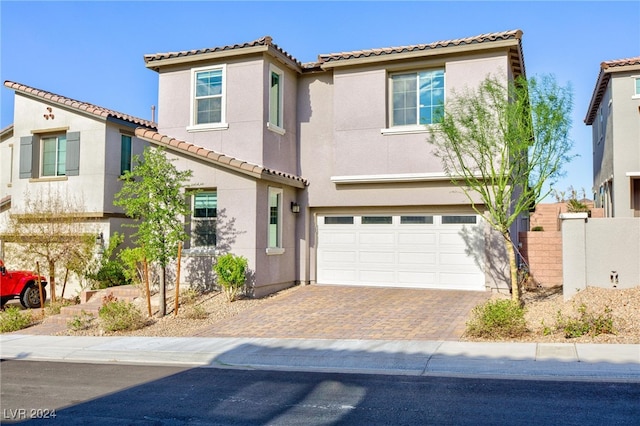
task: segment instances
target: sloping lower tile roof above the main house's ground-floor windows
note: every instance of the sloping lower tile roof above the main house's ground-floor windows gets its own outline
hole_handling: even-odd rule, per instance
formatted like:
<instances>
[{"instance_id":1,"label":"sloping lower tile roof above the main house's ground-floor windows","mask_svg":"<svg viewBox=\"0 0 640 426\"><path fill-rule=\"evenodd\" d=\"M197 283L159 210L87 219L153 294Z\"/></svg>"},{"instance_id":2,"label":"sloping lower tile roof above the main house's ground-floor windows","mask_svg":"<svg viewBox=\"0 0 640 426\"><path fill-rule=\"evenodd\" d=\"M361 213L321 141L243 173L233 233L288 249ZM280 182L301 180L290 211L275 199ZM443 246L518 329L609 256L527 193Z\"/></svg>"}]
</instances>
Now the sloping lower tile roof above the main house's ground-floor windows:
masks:
<instances>
[{"instance_id":1,"label":"sloping lower tile roof above the main house's ground-floor windows","mask_svg":"<svg viewBox=\"0 0 640 426\"><path fill-rule=\"evenodd\" d=\"M290 173L285 173L278 170L269 169L264 166L259 166L257 164L248 163L246 161L239 160L228 155L220 154L218 152L191 144L189 142L181 141L179 139L175 139L171 136L163 135L149 129L139 127L136 129L135 134L141 139L145 139L151 143L163 146L172 151L182 152L188 154L189 156L196 157L209 163L217 164L218 166L232 169L236 172L253 176L258 179L285 183L289 186L294 186L297 188L304 188L308 185L307 180L300 176L295 176Z\"/></svg>"}]
</instances>

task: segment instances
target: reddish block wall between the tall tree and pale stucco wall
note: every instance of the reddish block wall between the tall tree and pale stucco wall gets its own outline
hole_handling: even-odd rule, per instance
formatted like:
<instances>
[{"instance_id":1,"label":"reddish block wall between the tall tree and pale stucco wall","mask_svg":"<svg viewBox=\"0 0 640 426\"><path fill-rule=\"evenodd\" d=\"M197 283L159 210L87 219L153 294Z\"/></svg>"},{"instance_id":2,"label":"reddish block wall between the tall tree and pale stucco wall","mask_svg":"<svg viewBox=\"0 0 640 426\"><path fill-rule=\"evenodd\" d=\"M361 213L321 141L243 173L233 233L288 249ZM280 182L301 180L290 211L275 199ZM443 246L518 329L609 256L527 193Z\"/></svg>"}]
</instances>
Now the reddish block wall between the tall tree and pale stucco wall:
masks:
<instances>
[{"instance_id":1,"label":"reddish block wall between the tall tree and pale stucco wall","mask_svg":"<svg viewBox=\"0 0 640 426\"><path fill-rule=\"evenodd\" d=\"M562 284L562 233L560 231L521 232L520 253L536 283L543 287Z\"/></svg>"}]
</instances>

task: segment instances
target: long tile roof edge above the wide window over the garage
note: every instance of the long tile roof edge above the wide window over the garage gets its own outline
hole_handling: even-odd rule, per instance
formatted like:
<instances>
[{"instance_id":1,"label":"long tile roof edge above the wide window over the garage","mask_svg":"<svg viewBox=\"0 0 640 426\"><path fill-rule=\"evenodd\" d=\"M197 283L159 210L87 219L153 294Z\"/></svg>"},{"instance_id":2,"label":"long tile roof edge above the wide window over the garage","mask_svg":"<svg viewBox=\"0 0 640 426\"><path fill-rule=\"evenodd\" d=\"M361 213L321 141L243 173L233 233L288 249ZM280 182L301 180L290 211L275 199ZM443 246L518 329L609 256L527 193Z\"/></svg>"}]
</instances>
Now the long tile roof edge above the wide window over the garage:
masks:
<instances>
[{"instance_id":1,"label":"long tile roof edge above the wide window over the garage","mask_svg":"<svg viewBox=\"0 0 640 426\"><path fill-rule=\"evenodd\" d=\"M393 55L397 53L441 49L441 48L451 47L451 46L479 44L479 43L500 41L500 40L511 40L511 39L521 40L521 38L522 38L521 30L511 30L511 31L504 31L499 33L481 34L473 37L459 38L455 40L436 41L428 44L415 44L410 46L386 47L381 49L356 50L353 52L331 53L327 55L319 55L318 62L326 63L326 62L342 61L342 60L364 58L364 57L371 57L371 56Z\"/></svg>"}]
</instances>

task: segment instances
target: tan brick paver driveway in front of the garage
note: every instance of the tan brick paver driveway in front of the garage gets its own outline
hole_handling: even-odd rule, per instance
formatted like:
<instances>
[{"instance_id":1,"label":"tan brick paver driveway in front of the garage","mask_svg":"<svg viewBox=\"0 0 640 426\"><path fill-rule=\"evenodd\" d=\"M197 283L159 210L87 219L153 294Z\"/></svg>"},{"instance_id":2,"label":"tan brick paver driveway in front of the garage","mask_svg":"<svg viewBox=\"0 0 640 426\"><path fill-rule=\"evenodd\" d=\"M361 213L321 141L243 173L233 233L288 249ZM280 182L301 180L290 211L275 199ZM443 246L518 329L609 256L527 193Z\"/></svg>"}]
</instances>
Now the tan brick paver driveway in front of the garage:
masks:
<instances>
[{"instance_id":1,"label":"tan brick paver driveway in front of the garage","mask_svg":"<svg viewBox=\"0 0 640 426\"><path fill-rule=\"evenodd\" d=\"M301 286L201 337L459 340L474 306L489 292Z\"/></svg>"}]
</instances>

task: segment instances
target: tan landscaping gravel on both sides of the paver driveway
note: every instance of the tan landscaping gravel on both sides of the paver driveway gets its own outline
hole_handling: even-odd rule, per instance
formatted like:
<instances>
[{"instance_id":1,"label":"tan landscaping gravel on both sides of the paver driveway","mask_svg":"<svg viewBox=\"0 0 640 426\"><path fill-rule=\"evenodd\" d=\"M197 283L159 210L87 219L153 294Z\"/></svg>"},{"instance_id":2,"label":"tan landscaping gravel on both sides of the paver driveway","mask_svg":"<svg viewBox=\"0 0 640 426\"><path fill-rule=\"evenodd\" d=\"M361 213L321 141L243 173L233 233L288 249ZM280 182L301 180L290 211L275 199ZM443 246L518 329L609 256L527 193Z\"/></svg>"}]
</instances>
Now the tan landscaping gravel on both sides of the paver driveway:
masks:
<instances>
[{"instance_id":1,"label":"tan landscaping gravel on both sides of the paver driveway","mask_svg":"<svg viewBox=\"0 0 640 426\"><path fill-rule=\"evenodd\" d=\"M227 302L222 293L211 292L200 296L193 305L181 306L177 316L170 310L164 318L152 318L150 324L142 329L111 333L110 335L193 336L215 323L241 320L243 311L268 303L271 299L282 297L287 292L296 291L298 288L293 287L261 299L241 298L232 303ZM508 296L495 295L494 297ZM529 333L511 341L640 344L640 286L630 289L588 287L568 301L563 299L561 288L537 289L526 292L523 295L523 300ZM172 308L173 301L169 299L167 302L167 306ZM562 331L554 330L559 312L565 318L577 318L578 308L583 304L588 313L596 316L603 315L610 309L615 334L585 335L567 339ZM193 318L194 306L199 306L199 311L204 312L206 317ZM146 308L143 307L142 310L144 312ZM553 332L549 333L550 330ZM76 332L67 331L63 334L105 335L97 327ZM487 341L492 339L470 339L463 336L462 340Z\"/></svg>"}]
</instances>

